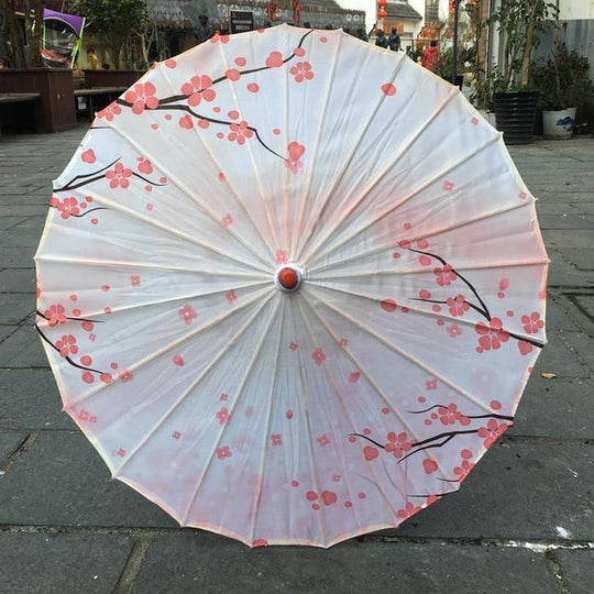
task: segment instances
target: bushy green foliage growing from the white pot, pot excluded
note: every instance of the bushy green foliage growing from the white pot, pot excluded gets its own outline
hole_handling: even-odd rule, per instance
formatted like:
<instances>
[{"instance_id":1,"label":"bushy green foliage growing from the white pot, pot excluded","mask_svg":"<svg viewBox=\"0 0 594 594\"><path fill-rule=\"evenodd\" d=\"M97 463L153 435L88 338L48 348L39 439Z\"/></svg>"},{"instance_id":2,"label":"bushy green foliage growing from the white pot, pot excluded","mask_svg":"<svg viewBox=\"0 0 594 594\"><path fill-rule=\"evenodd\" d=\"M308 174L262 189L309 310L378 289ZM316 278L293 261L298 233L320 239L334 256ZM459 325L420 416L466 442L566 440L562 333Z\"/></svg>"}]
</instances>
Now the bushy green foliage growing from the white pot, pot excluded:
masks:
<instances>
[{"instance_id":1,"label":"bushy green foliage growing from the white pot, pot excluded","mask_svg":"<svg viewBox=\"0 0 594 594\"><path fill-rule=\"evenodd\" d=\"M582 107L594 94L587 57L556 42L551 57L532 67L532 79L540 89L542 108L548 111Z\"/></svg>"}]
</instances>

